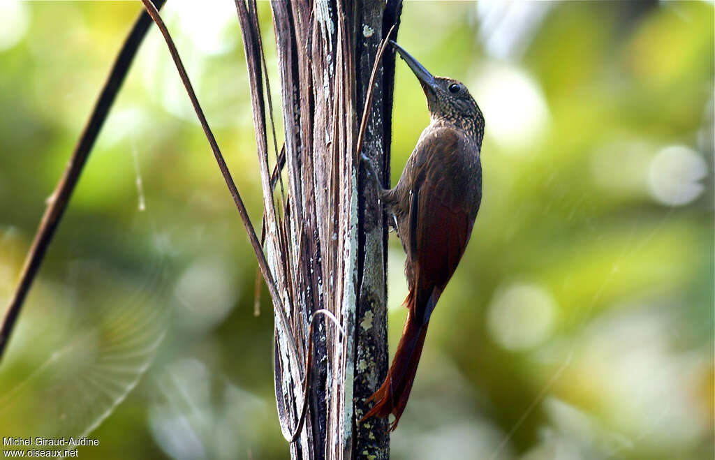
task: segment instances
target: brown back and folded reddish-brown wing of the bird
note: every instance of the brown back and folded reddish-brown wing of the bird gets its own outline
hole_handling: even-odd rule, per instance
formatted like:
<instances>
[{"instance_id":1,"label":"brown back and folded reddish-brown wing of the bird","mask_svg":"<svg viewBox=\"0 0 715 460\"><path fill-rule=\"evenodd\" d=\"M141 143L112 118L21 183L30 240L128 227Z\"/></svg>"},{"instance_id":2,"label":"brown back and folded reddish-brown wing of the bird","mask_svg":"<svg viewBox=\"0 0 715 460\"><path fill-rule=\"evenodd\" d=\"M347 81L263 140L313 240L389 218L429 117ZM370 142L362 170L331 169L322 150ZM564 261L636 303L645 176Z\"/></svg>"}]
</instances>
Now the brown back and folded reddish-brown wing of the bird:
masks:
<instances>
[{"instance_id":1,"label":"brown back and folded reddish-brown wing of the bird","mask_svg":"<svg viewBox=\"0 0 715 460\"><path fill-rule=\"evenodd\" d=\"M429 319L459 264L480 202L478 150L452 129L436 129L415 149L410 197L409 252L415 276L415 314Z\"/></svg>"}]
</instances>

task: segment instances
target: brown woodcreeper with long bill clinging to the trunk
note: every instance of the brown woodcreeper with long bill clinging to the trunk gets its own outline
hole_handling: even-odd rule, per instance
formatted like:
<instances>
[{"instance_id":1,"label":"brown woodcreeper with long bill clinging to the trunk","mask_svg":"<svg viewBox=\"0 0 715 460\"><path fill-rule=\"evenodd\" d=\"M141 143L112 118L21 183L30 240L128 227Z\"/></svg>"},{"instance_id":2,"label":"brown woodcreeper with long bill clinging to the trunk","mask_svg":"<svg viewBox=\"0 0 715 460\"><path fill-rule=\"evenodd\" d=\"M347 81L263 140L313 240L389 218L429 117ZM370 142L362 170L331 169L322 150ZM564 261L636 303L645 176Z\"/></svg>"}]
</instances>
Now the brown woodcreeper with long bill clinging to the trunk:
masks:
<instances>
[{"instance_id":1,"label":"brown woodcreeper with long bill clinging to the trunk","mask_svg":"<svg viewBox=\"0 0 715 460\"><path fill-rule=\"evenodd\" d=\"M430 316L464 254L479 211L484 116L463 83L433 76L395 41L390 44L420 81L430 112L430 124L393 189L383 189L370 160L361 155L407 255L408 315L402 338L385 381L368 398L373 408L360 419L393 414L388 431L394 431L407 406Z\"/></svg>"}]
</instances>

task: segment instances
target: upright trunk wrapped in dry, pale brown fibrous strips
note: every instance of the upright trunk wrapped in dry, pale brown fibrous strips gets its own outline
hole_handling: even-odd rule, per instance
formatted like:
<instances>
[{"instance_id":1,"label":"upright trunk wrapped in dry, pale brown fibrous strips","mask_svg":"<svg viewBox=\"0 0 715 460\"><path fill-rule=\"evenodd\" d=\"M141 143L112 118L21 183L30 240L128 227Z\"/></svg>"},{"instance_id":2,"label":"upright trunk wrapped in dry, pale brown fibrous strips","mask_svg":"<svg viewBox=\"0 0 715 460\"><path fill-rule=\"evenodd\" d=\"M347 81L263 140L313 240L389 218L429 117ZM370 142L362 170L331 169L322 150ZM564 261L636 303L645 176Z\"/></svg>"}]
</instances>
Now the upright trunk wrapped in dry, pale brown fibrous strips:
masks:
<instances>
[{"instance_id":1,"label":"upright trunk wrapped in dry, pale brown fibrous strips","mask_svg":"<svg viewBox=\"0 0 715 460\"><path fill-rule=\"evenodd\" d=\"M285 194L274 194L256 6L242 1L237 6L262 161L265 251L280 297L274 299L275 384L282 430L287 435L298 426L307 397L292 459L387 459L386 421L356 421L388 367L387 228L377 194L356 161L356 144L375 55L398 23L401 2L272 2L287 169ZM389 171L394 69L394 54L386 52L362 149L382 166L383 181ZM310 319L321 309L337 317L344 334L330 321L316 320L304 395Z\"/></svg>"}]
</instances>

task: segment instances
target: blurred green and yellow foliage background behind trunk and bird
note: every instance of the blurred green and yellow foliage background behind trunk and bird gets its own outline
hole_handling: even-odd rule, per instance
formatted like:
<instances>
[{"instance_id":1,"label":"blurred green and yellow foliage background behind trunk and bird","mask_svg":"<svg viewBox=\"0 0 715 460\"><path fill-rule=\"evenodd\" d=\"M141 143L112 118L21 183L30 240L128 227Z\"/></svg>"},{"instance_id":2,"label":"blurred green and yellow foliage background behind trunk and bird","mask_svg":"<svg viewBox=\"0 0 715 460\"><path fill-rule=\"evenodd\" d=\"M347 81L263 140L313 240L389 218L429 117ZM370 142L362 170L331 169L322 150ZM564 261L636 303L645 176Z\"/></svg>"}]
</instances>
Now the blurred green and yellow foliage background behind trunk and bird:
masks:
<instances>
[{"instance_id":1,"label":"blurred green and yellow foliage background behind trunk and bird","mask_svg":"<svg viewBox=\"0 0 715 460\"><path fill-rule=\"evenodd\" d=\"M163 15L259 222L235 12L230 1L197 4L172 0ZM4 304L139 5L2 5L12 24L0 33ZM433 316L393 456L711 459L713 6L529 7L506 23L468 2L405 4L401 44L465 81L486 135L482 209ZM267 4L260 14L272 44ZM510 39L521 51L495 51ZM272 45L267 54L278 100ZM398 61L393 184L427 124ZM406 291L394 237L389 262L394 343ZM101 421L89 432L99 446L82 458L287 458L272 315L264 294L254 316L254 279L245 231L154 30L0 369L0 436Z\"/></svg>"}]
</instances>

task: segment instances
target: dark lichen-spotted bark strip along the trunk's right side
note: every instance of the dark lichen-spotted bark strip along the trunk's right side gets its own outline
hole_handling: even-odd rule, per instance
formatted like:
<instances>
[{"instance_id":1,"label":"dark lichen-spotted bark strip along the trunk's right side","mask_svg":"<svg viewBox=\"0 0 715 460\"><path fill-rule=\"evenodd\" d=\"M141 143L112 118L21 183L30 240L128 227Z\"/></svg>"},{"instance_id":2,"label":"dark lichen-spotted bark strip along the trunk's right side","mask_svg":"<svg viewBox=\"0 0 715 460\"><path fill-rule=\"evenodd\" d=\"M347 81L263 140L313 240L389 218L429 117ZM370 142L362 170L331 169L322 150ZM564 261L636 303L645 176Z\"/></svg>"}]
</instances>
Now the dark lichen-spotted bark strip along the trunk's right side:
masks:
<instances>
[{"instance_id":1,"label":"dark lichen-spotted bark strip along the trunk's right side","mask_svg":"<svg viewBox=\"0 0 715 460\"><path fill-rule=\"evenodd\" d=\"M397 34L402 4L388 2L383 9L379 1L365 1L360 5L363 31L359 41L358 101L365 101L368 92L368 73L372 66L375 49L390 27L395 24L393 37ZM373 31L373 32L371 32ZM378 82L373 88L373 109L365 130L363 152L378 165L383 186L390 184L390 141L392 139L393 83L395 54L388 51L383 56L383 66L378 69ZM379 174L379 173L378 173ZM360 419L370 410L365 400L380 387L390 364L388 354L387 318L387 223L377 192L361 175L358 221L360 248L358 259L360 295L356 309L355 330L355 376L354 401L356 418ZM388 459L390 435L387 419L370 419L356 426L355 458Z\"/></svg>"}]
</instances>

